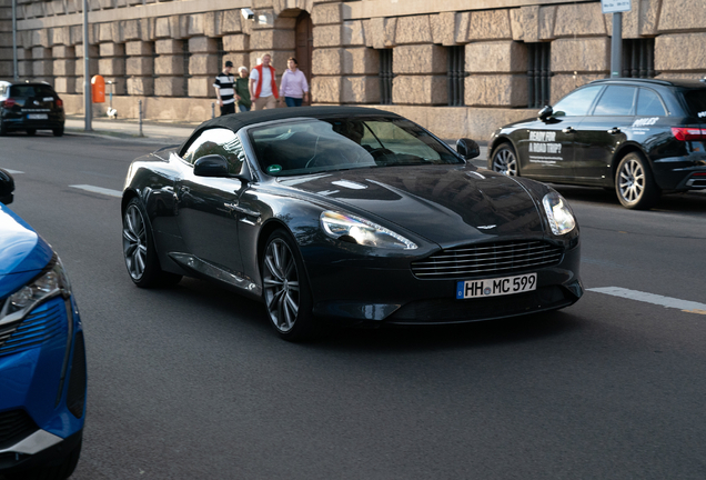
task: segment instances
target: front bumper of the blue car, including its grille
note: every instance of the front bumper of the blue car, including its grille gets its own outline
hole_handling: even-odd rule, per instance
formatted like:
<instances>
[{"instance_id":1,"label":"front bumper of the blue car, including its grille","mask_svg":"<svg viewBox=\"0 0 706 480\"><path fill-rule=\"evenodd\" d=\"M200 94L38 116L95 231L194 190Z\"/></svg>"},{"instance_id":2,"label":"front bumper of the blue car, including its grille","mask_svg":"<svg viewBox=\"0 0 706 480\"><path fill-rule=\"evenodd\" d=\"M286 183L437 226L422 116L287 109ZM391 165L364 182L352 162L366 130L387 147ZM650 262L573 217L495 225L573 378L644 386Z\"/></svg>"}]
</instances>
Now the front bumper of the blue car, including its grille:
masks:
<instances>
[{"instance_id":1,"label":"front bumper of the blue car, including its grille","mask_svg":"<svg viewBox=\"0 0 706 480\"><path fill-rule=\"evenodd\" d=\"M75 302L54 297L0 344L0 472L53 461L80 442L85 386Z\"/></svg>"}]
</instances>

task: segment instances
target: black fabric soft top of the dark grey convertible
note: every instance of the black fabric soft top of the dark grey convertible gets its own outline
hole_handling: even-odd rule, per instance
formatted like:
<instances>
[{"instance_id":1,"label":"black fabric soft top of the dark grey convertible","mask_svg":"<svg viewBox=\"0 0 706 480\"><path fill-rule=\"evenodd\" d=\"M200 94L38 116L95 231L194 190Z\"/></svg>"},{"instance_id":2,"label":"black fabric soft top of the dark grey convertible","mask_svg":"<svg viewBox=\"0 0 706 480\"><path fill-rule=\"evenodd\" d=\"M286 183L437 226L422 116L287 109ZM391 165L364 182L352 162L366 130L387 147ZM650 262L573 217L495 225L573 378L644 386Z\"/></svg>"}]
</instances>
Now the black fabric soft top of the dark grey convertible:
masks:
<instances>
[{"instance_id":1,"label":"black fabric soft top of the dark grey convertible","mask_svg":"<svg viewBox=\"0 0 706 480\"><path fill-rule=\"evenodd\" d=\"M236 132L243 127L255 123L263 123L274 120L283 120L289 118L335 118L335 117L371 117L380 116L387 118L401 118L399 114L385 110L365 107L297 107L297 108L279 108L271 110L258 110L241 113L231 113L223 117L216 117L201 123L193 133L181 144L179 151L194 138L194 134L212 128L226 128Z\"/></svg>"}]
</instances>

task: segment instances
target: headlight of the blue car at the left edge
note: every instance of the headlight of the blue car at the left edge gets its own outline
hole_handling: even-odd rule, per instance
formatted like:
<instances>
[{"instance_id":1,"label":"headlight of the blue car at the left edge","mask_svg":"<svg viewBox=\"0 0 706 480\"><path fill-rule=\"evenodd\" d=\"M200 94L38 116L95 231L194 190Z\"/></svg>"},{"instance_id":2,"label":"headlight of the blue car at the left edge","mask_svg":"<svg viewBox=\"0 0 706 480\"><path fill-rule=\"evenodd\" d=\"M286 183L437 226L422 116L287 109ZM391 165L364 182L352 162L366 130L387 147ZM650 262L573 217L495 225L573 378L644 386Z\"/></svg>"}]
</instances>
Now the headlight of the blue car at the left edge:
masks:
<instances>
[{"instance_id":1,"label":"headlight of the blue car at the left edge","mask_svg":"<svg viewBox=\"0 0 706 480\"><path fill-rule=\"evenodd\" d=\"M7 317L20 319L42 301L52 297L71 296L71 284L59 257L56 257L42 271L42 274L8 297L0 310L0 320Z\"/></svg>"}]
</instances>

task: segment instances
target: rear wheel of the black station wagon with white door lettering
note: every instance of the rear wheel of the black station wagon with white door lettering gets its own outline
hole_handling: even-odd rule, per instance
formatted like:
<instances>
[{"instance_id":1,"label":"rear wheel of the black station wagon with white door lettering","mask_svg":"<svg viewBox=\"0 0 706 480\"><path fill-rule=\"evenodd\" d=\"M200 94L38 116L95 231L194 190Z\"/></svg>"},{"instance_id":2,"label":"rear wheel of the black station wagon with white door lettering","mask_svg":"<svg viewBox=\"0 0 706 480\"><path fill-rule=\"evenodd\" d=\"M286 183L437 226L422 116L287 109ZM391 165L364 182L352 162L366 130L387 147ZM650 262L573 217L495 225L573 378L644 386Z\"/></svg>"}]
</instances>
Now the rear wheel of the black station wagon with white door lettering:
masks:
<instances>
[{"instance_id":1,"label":"rear wheel of the black station wagon with white door lettering","mask_svg":"<svg viewBox=\"0 0 706 480\"><path fill-rule=\"evenodd\" d=\"M615 192L623 207L645 210L659 199L652 170L645 159L632 152L623 157L615 174Z\"/></svg>"}]
</instances>

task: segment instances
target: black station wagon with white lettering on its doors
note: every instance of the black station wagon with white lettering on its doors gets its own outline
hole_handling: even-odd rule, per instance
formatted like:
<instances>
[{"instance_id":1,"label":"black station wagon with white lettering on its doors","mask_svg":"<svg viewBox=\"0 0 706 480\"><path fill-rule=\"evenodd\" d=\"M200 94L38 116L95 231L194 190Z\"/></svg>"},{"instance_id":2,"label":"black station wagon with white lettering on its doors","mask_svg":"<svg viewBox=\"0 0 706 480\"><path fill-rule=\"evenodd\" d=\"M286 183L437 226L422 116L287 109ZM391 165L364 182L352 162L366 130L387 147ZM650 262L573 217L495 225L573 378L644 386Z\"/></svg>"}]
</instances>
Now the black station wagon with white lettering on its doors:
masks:
<instances>
[{"instance_id":1,"label":"black station wagon with white lettering on its doors","mask_svg":"<svg viewBox=\"0 0 706 480\"><path fill-rule=\"evenodd\" d=\"M628 209L706 189L706 80L606 79L497 129L488 169L615 190Z\"/></svg>"}]
</instances>

